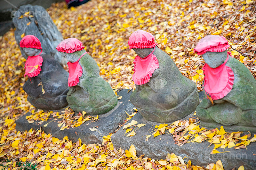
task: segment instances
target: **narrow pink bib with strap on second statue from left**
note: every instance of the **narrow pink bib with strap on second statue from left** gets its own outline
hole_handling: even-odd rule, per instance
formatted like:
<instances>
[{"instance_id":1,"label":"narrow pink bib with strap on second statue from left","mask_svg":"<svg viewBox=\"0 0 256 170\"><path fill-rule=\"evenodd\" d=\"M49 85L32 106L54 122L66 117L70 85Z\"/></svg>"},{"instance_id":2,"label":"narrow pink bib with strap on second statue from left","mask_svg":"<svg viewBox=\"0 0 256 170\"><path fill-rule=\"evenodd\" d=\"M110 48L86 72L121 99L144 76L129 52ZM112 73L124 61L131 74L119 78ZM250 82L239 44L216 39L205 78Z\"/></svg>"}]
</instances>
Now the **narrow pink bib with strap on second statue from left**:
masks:
<instances>
[{"instance_id":1,"label":"narrow pink bib with strap on second statue from left","mask_svg":"<svg viewBox=\"0 0 256 170\"><path fill-rule=\"evenodd\" d=\"M85 52L84 54L82 54L80 58L74 63L68 62L68 72L69 72L68 87L75 86L77 85L77 83L79 83L79 78L83 74L83 69L79 64L79 60L82 58L82 56L84 56L87 53L88 52Z\"/></svg>"}]
</instances>

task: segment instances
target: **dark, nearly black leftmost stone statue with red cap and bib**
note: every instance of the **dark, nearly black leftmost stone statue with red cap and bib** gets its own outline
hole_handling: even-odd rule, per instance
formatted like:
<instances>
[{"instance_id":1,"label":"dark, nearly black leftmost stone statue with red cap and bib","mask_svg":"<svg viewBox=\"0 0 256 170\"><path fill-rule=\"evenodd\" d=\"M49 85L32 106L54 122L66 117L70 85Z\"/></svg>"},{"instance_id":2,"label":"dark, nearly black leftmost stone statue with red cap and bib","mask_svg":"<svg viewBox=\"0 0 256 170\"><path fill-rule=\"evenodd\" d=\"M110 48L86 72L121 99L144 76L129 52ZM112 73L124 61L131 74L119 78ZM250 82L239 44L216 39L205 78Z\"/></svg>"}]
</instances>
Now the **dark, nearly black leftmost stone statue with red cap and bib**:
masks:
<instances>
[{"instance_id":1,"label":"dark, nearly black leftmost stone statue with red cap and bib","mask_svg":"<svg viewBox=\"0 0 256 170\"><path fill-rule=\"evenodd\" d=\"M23 85L28 101L39 109L58 110L68 105L68 72L50 55L41 55L41 42L34 35L20 41L28 59L25 74L29 79ZM40 50L41 49L41 50Z\"/></svg>"}]
</instances>

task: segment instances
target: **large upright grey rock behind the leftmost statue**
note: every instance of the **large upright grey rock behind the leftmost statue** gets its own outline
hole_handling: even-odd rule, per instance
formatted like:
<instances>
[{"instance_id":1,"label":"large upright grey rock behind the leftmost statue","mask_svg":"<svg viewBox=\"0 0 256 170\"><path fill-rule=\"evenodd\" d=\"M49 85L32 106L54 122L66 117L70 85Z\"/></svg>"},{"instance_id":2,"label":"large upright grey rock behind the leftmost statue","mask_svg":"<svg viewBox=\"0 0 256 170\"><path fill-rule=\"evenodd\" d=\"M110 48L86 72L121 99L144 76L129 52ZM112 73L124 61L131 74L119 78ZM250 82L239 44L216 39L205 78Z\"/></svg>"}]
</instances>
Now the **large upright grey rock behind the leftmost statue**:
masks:
<instances>
[{"instance_id":1,"label":"large upright grey rock behind the leftmost statue","mask_svg":"<svg viewBox=\"0 0 256 170\"><path fill-rule=\"evenodd\" d=\"M30 11L33 17L25 17L24 13ZM23 15L23 18L20 16ZM20 19L19 19L20 18ZM32 6L30 4L20 6L12 18L13 24L16 27L15 39L19 44L21 35L35 35L42 43L43 51L54 57L61 65L67 64L67 60L63 55L58 53L56 47L63 40L61 33L54 25L52 18L42 6ZM28 25L28 23L30 24ZM21 54L26 58L25 52L20 48ZM26 58L27 59L27 58Z\"/></svg>"}]
</instances>

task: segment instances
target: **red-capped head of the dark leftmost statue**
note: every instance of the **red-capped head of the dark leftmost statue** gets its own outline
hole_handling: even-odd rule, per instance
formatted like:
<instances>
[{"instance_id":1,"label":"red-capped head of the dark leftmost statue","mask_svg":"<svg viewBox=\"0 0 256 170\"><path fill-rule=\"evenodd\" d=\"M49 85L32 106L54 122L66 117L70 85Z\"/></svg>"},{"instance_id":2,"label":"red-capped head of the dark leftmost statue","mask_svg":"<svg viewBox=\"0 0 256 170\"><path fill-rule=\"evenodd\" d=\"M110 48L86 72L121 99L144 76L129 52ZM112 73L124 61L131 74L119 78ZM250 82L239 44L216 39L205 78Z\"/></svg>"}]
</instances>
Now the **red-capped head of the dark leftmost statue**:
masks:
<instances>
[{"instance_id":1,"label":"red-capped head of the dark leftmost statue","mask_svg":"<svg viewBox=\"0 0 256 170\"><path fill-rule=\"evenodd\" d=\"M34 56L42 51L41 42L34 35L26 35L20 41L20 47L28 56ZM41 50L40 50L41 49Z\"/></svg>"}]
</instances>

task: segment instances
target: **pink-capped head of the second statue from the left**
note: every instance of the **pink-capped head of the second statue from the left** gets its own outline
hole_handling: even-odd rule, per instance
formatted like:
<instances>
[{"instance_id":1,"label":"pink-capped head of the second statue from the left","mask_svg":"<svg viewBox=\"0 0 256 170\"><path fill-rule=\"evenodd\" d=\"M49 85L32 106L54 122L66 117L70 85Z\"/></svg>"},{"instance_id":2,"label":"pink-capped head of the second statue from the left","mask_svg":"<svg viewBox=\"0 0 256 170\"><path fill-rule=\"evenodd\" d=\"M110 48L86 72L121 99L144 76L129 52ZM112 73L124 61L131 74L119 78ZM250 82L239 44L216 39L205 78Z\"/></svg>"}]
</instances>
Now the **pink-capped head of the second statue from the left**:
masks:
<instances>
[{"instance_id":1,"label":"pink-capped head of the second statue from the left","mask_svg":"<svg viewBox=\"0 0 256 170\"><path fill-rule=\"evenodd\" d=\"M61 41L56 49L71 63L76 62L85 52L83 43L76 38Z\"/></svg>"}]
</instances>

